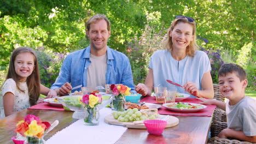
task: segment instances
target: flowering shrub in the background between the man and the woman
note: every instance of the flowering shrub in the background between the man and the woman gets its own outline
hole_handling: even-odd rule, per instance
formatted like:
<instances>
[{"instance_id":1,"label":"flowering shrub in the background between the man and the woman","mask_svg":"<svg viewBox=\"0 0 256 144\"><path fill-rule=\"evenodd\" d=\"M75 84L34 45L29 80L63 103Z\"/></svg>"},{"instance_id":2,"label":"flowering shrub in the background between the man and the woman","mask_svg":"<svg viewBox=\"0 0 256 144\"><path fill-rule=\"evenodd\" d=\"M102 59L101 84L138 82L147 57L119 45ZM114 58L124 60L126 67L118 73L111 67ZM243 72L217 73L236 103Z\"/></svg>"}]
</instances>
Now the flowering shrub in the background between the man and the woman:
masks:
<instances>
[{"instance_id":1,"label":"flowering shrub in the background between the man and the woman","mask_svg":"<svg viewBox=\"0 0 256 144\"><path fill-rule=\"evenodd\" d=\"M153 20L150 14L147 15L148 21ZM132 38L131 42L127 44L126 55L130 59L131 68L133 72L133 81L137 83L144 83L146 75L148 74L148 64L150 56L156 50L162 49L162 41L166 39L165 31L156 32L156 26L150 26L150 22L146 23L145 29L140 37L137 34Z\"/></svg>"}]
</instances>

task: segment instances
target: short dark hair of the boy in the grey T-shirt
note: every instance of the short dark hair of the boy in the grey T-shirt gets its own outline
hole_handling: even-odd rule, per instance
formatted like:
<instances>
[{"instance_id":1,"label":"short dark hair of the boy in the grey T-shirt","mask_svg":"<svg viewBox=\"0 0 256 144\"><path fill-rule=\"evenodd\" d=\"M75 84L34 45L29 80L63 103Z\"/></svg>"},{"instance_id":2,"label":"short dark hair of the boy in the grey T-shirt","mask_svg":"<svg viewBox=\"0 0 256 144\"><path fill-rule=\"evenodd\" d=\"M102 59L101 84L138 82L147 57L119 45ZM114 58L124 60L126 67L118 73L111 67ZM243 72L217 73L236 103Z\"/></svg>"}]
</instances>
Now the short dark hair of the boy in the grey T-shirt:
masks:
<instances>
[{"instance_id":1,"label":"short dark hair of the boy in the grey T-shirt","mask_svg":"<svg viewBox=\"0 0 256 144\"><path fill-rule=\"evenodd\" d=\"M239 77L240 81L246 79L246 72L245 70L237 64L234 63L224 63L222 64L222 67L220 67L218 72L218 77L225 76L228 73L236 73L236 76Z\"/></svg>"}]
</instances>

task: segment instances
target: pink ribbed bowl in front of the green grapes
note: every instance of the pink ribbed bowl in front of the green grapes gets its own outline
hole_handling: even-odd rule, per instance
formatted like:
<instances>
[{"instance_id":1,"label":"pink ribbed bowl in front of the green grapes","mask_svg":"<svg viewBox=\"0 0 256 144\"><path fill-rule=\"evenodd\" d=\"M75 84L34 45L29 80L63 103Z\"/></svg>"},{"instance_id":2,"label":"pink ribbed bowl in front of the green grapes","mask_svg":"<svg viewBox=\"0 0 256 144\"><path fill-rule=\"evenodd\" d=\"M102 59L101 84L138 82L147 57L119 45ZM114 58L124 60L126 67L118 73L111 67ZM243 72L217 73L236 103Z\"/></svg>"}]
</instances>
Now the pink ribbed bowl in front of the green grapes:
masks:
<instances>
[{"instance_id":1,"label":"pink ribbed bowl in front of the green grapes","mask_svg":"<svg viewBox=\"0 0 256 144\"><path fill-rule=\"evenodd\" d=\"M149 119L144 121L144 124L149 134L161 135L167 125L167 121L160 119Z\"/></svg>"}]
</instances>

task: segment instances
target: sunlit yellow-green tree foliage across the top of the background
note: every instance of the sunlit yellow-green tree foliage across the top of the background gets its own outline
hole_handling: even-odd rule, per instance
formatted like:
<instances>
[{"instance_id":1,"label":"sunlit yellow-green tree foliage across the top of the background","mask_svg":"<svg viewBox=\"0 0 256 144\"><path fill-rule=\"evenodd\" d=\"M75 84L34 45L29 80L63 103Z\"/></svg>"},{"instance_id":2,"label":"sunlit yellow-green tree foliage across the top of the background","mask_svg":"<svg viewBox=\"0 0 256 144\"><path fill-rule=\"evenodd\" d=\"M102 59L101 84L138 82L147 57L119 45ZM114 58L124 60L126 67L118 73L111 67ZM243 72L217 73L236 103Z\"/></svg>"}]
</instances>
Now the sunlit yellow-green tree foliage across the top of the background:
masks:
<instances>
[{"instance_id":1,"label":"sunlit yellow-green tree foliage across the top of the background","mask_svg":"<svg viewBox=\"0 0 256 144\"><path fill-rule=\"evenodd\" d=\"M108 46L120 52L126 51L128 43L143 46L134 41L135 39L138 42L142 41L141 38L152 39L159 44L154 48L160 49L161 41L155 39L166 33L174 16L185 15L193 17L197 23L197 36L200 38L197 43L200 46L206 50L226 49L232 53L232 57L238 58L239 53L244 52L239 51L243 46L254 43L254 13L253 0L1 1L0 70L7 69L10 53L19 46L30 46L34 49L44 47L46 51L58 53L83 49L89 45L89 41L85 38L85 24L94 14L104 14L108 17L112 28ZM152 28L152 31L147 30L147 27ZM159 35L152 35L153 33ZM147 43L153 44L150 41ZM145 45L145 48L139 48L141 50L138 52L148 52L145 57L141 55L139 61L132 62L136 57L133 48L131 55L127 53L131 59L134 77L141 77L141 80L135 82L143 82L147 75L141 67L147 69L148 58L154 50L148 50L146 47ZM253 53L248 55L250 63L245 64L244 67L251 71L252 65L255 65L253 56ZM244 59L241 57L242 60ZM251 75L255 76L253 72Z\"/></svg>"}]
</instances>

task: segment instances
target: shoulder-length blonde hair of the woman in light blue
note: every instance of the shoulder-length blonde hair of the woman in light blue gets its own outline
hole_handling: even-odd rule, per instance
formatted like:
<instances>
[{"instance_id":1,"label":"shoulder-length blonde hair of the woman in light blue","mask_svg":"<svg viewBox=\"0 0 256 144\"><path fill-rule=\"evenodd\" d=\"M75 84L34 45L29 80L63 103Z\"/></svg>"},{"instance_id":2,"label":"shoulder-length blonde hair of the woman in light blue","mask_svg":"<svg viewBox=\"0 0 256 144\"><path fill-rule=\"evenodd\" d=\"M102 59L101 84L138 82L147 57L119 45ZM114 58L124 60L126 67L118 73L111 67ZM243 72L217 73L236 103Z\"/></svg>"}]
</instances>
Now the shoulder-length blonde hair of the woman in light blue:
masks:
<instances>
[{"instance_id":1,"label":"shoulder-length blonde hair of the woman in light blue","mask_svg":"<svg viewBox=\"0 0 256 144\"><path fill-rule=\"evenodd\" d=\"M187 18L178 18L175 19L174 21L172 21L172 24L170 26L170 28L168 28L167 31L167 39L164 41L163 44L163 48L168 50L168 51L172 51L173 47L172 47L172 37L170 37L170 33L173 31L174 27L178 24L178 23L189 23L189 25L191 25L193 27L193 40L191 41L191 43L188 45L187 47L187 55L190 57L193 57L195 55L196 50L199 48L199 46L196 44L196 23L195 21L193 22L189 22Z\"/></svg>"}]
</instances>

